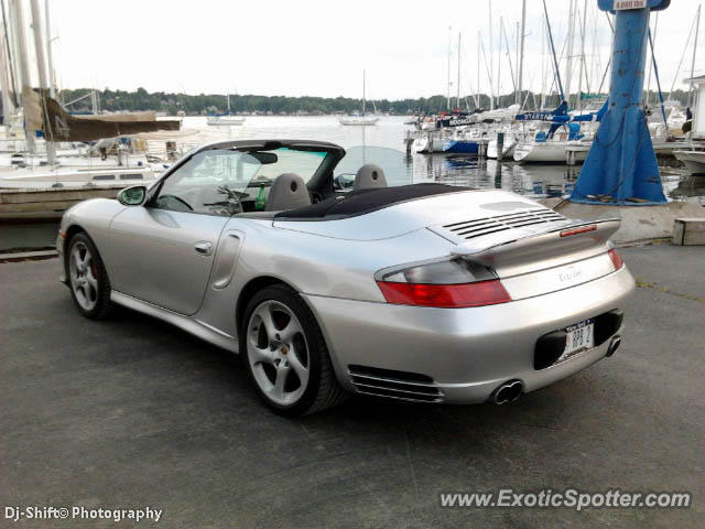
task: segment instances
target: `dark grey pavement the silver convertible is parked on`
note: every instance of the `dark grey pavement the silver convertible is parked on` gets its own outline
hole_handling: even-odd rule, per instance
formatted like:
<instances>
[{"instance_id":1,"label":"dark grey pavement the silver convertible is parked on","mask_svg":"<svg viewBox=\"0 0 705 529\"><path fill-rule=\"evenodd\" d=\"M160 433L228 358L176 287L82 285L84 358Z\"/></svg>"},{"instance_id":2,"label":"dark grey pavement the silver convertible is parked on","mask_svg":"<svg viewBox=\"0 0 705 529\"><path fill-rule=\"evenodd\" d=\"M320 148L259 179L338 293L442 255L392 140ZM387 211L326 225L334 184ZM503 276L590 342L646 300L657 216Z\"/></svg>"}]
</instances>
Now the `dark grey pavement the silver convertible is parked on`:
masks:
<instances>
[{"instance_id":1,"label":"dark grey pavement the silver convertible is parked on","mask_svg":"<svg viewBox=\"0 0 705 529\"><path fill-rule=\"evenodd\" d=\"M696 527L705 248L621 252L641 287L615 357L510 406L354 399L302 420L267 411L236 357L182 331L80 317L56 259L0 264L0 508L150 506L170 528ZM687 490L694 505L440 507L443 492L503 487Z\"/></svg>"}]
</instances>

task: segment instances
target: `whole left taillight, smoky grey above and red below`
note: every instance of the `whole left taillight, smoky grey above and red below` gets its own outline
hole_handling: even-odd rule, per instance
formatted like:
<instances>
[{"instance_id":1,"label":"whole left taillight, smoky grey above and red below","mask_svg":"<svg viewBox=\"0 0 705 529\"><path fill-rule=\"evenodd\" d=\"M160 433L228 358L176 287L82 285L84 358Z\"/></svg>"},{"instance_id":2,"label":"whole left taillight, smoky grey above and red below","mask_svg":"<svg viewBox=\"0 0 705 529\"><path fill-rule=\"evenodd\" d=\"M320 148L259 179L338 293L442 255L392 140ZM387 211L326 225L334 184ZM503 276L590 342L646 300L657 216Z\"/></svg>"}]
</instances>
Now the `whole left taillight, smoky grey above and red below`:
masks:
<instances>
[{"instance_id":1,"label":"whole left taillight, smoky grey above and red below","mask_svg":"<svg viewBox=\"0 0 705 529\"><path fill-rule=\"evenodd\" d=\"M465 259L387 269L376 279L387 302L401 305L451 309L511 301L491 269Z\"/></svg>"}]
</instances>

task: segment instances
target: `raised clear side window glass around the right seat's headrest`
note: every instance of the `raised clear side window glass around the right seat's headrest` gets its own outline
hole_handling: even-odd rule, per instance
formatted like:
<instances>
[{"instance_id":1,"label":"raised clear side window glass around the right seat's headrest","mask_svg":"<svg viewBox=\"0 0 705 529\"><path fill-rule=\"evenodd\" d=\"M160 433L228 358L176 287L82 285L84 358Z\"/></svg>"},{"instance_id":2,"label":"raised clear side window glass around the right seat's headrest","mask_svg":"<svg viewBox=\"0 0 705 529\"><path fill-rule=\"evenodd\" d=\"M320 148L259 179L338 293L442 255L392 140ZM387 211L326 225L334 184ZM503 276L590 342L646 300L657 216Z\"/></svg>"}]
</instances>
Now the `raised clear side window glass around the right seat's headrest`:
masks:
<instances>
[{"instance_id":1,"label":"raised clear side window glass around the right seat's headrest","mask_svg":"<svg viewBox=\"0 0 705 529\"><path fill-rule=\"evenodd\" d=\"M368 163L379 165L390 187L413 183L413 162L394 149L359 145L347 149L345 158L333 172L337 191L350 191L358 170Z\"/></svg>"}]
</instances>

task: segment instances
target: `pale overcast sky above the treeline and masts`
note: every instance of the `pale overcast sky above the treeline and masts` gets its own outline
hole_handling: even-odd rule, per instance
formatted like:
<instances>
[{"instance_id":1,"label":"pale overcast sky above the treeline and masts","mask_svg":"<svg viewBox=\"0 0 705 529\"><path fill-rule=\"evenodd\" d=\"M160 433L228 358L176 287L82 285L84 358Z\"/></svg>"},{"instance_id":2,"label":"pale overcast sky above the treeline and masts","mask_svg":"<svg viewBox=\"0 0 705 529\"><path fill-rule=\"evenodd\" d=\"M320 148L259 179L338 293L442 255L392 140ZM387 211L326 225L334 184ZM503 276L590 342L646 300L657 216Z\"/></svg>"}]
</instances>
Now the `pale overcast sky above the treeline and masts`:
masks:
<instances>
[{"instance_id":1,"label":"pale overcast sky above the treeline and masts","mask_svg":"<svg viewBox=\"0 0 705 529\"><path fill-rule=\"evenodd\" d=\"M503 42L501 56L498 53L499 22L502 17L516 65L521 0L491 3L492 75L497 84L500 64L500 91L506 94L512 90L512 84ZM584 0L577 3L582 11ZM664 91L674 78L677 88L690 76L693 39L677 76L676 69L698 3L673 0L659 15L655 47ZM605 13L596 12L597 0L587 0L587 4L585 53L594 87L609 57L611 33ZM556 52L565 55L570 0L547 0L547 6ZM131 90L142 86L150 91L187 94L360 97L366 68L368 98L425 97L447 90L452 26L452 80L457 77L459 31L460 87L465 95L477 87L478 31L488 62L490 55L488 0L53 0L51 9L52 32L58 36L54 44L56 75L66 88ZM541 0L527 0L524 88L534 90L542 85L542 12ZM652 13L652 28L654 20ZM705 73L704 30L705 13L696 74ZM579 31L576 25L575 56L579 54ZM545 55L546 64L547 60ZM562 75L565 68L564 60ZM576 61L574 71L577 68ZM485 60L480 88L489 91ZM577 73L572 91L576 88ZM452 90L455 94L455 85Z\"/></svg>"}]
</instances>

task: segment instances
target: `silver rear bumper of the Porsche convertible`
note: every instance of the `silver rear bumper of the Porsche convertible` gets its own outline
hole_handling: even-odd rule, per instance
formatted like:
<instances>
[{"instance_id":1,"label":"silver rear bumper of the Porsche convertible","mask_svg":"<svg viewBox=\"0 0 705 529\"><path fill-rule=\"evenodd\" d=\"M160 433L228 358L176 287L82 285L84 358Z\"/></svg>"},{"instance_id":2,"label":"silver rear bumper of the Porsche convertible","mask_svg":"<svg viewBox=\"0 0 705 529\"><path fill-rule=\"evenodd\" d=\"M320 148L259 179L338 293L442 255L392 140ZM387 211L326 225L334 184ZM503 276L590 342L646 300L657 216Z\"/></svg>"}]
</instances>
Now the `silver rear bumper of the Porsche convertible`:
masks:
<instances>
[{"instance_id":1,"label":"silver rear bumper of the Porsche convertible","mask_svg":"<svg viewBox=\"0 0 705 529\"><path fill-rule=\"evenodd\" d=\"M623 267L551 294L482 307L431 309L304 298L347 389L364 390L349 371L350 366L365 366L424 375L437 388L434 401L474 403L486 401L503 381L519 379L524 391L532 391L603 358L609 339L545 369L533 366L541 336L623 307L633 289L633 278Z\"/></svg>"}]
</instances>

